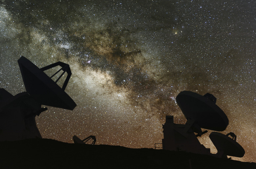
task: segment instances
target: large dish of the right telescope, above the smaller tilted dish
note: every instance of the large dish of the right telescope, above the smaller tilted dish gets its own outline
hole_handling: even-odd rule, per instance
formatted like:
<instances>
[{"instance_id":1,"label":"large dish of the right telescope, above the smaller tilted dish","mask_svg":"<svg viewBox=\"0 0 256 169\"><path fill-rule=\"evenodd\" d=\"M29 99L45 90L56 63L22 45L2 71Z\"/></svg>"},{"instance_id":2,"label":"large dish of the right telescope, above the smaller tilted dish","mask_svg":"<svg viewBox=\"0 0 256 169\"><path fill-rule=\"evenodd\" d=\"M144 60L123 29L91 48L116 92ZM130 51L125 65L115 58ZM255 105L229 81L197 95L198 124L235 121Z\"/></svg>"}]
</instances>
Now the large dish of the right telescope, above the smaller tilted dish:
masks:
<instances>
[{"instance_id":1,"label":"large dish of the right telescope, above the smaller tilted dish","mask_svg":"<svg viewBox=\"0 0 256 169\"><path fill-rule=\"evenodd\" d=\"M182 91L176 97L176 102L182 113L189 121L194 121L201 128L224 131L228 125L228 118L216 103L216 98L207 93L204 96Z\"/></svg>"}]
</instances>

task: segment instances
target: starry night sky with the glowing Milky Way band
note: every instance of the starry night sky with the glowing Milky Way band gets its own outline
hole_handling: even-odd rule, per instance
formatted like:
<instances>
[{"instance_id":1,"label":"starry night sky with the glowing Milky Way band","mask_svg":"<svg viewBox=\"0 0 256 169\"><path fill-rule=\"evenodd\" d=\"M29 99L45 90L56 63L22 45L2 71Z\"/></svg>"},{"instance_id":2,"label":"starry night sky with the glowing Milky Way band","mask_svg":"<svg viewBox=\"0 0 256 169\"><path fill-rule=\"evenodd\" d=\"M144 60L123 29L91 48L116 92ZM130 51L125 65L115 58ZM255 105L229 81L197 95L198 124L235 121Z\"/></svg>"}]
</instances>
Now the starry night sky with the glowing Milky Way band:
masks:
<instances>
[{"instance_id":1,"label":"starry night sky with the glowing Milky Way band","mask_svg":"<svg viewBox=\"0 0 256 169\"><path fill-rule=\"evenodd\" d=\"M73 111L36 117L43 138L154 148L165 115L186 122L176 96L211 93L256 162L256 1L0 1L0 88L26 91L17 60L71 67ZM199 138L217 153L209 134Z\"/></svg>"}]
</instances>

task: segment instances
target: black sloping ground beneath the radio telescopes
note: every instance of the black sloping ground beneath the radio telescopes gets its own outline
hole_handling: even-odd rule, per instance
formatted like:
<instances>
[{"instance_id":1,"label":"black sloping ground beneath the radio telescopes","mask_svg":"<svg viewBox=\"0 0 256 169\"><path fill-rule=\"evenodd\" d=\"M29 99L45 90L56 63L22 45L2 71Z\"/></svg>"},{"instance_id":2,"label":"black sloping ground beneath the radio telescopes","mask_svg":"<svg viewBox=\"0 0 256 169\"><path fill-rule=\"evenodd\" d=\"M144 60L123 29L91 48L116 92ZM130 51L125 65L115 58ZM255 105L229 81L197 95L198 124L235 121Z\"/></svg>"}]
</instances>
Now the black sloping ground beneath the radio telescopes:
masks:
<instances>
[{"instance_id":1,"label":"black sloping ground beneath the radio telescopes","mask_svg":"<svg viewBox=\"0 0 256 169\"><path fill-rule=\"evenodd\" d=\"M193 153L70 144L51 139L1 141L0 152L0 168L256 168L252 162Z\"/></svg>"}]
</instances>

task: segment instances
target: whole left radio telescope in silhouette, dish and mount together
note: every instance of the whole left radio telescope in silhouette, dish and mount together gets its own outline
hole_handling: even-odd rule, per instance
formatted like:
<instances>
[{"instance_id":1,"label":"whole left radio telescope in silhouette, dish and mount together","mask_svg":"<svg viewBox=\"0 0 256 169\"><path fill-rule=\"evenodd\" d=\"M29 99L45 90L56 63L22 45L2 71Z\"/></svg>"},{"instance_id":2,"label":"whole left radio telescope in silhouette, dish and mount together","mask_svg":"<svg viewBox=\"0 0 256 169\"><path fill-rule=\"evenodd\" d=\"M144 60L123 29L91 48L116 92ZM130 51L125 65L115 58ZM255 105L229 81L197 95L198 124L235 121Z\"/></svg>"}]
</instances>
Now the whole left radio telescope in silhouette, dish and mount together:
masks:
<instances>
[{"instance_id":1,"label":"whole left radio telescope in silhouette, dish and mount together","mask_svg":"<svg viewBox=\"0 0 256 169\"><path fill-rule=\"evenodd\" d=\"M18 60L26 92L15 96L0 89L0 141L15 141L28 138L42 138L35 122L35 116L47 110L41 105L73 110L75 102L64 91L71 76L68 64L57 62L38 68L25 57ZM43 71L61 66L62 74L54 82ZM66 80L60 87L56 83L67 72Z\"/></svg>"}]
</instances>

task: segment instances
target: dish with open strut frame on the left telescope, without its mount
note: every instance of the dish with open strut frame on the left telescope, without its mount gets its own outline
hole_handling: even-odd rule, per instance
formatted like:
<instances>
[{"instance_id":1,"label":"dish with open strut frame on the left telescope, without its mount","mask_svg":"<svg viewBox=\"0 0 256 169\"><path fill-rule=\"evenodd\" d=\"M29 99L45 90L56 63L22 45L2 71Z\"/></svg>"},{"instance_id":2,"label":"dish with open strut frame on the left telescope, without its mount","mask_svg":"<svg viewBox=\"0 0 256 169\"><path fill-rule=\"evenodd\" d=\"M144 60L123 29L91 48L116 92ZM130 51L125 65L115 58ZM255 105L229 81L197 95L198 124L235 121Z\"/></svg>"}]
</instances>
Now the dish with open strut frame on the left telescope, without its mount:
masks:
<instances>
[{"instance_id":1,"label":"dish with open strut frame on the left telescope, without its mount","mask_svg":"<svg viewBox=\"0 0 256 169\"><path fill-rule=\"evenodd\" d=\"M64 91L72 74L68 64L57 62L40 69L23 56L18 60L18 64L27 93L29 93L38 103L68 110L73 110L75 108L75 102ZM56 82L51 78L60 70L51 78L43 72L55 66L61 66L62 68L60 70L63 70L63 73L59 76ZM65 72L68 73L68 76L61 88L56 83Z\"/></svg>"}]
</instances>

